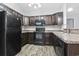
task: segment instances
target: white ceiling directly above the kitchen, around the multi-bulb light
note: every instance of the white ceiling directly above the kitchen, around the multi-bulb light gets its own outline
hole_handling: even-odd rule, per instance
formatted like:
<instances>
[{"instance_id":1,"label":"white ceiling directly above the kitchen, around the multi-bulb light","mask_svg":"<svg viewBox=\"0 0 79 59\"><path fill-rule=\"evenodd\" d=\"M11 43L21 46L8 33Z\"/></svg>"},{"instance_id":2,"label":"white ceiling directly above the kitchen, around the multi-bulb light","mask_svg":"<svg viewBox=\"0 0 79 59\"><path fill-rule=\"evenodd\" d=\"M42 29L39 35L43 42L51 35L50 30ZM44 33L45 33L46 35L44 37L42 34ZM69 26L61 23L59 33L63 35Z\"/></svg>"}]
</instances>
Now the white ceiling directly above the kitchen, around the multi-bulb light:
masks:
<instances>
[{"instance_id":1,"label":"white ceiling directly above the kitchen, around the multi-bulb light","mask_svg":"<svg viewBox=\"0 0 79 59\"><path fill-rule=\"evenodd\" d=\"M41 8L29 7L28 3L5 3L8 7L18 11L24 16L48 15L62 11L63 3L41 3Z\"/></svg>"}]
</instances>

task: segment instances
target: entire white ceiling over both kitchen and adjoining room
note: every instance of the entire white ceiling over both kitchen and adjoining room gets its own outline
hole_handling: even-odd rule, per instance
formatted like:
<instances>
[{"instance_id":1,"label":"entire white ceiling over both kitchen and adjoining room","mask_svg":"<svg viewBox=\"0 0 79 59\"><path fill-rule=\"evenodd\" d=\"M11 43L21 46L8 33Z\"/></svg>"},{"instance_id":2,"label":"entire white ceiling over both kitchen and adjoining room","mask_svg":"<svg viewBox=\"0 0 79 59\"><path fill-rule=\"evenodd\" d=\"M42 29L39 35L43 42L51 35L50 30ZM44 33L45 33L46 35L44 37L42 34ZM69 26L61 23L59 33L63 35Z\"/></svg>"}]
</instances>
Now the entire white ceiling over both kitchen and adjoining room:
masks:
<instances>
[{"instance_id":1,"label":"entire white ceiling over both kitchen and adjoining room","mask_svg":"<svg viewBox=\"0 0 79 59\"><path fill-rule=\"evenodd\" d=\"M29 7L28 3L4 3L8 7L18 11L24 16L34 15L49 15L56 12L63 11L64 3L41 3L41 8ZM72 12L67 12L68 18L79 17L79 3L67 3L66 11L68 8L73 8Z\"/></svg>"}]
</instances>

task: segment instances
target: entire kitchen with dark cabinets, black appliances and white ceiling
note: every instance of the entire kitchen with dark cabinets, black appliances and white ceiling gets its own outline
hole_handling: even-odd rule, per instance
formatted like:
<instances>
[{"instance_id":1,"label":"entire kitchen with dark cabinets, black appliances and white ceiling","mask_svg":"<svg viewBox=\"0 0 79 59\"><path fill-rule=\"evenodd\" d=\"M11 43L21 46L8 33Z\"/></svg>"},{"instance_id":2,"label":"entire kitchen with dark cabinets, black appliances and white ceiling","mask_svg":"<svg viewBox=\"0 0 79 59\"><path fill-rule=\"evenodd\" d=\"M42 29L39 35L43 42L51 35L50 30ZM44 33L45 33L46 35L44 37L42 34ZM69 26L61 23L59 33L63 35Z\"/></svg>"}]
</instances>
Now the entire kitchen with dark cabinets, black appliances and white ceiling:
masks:
<instances>
[{"instance_id":1,"label":"entire kitchen with dark cabinets, black appliances and white ceiling","mask_svg":"<svg viewBox=\"0 0 79 59\"><path fill-rule=\"evenodd\" d=\"M0 55L78 56L78 7L78 3L0 3L0 26L4 25Z\"/></svg>"}]
</instances>

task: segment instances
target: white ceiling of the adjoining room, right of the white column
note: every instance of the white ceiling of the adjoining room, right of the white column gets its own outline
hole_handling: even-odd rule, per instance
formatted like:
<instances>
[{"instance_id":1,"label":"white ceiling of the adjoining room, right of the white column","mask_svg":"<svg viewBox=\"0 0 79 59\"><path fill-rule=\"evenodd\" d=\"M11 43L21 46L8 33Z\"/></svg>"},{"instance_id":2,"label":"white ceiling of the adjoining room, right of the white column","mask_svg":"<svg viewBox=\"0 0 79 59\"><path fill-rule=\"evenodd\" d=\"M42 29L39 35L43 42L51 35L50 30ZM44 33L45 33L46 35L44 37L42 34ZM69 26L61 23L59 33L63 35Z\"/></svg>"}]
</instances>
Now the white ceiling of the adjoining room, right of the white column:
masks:
<instances>
[{"instance_id":1,"label":"white ceiling of the adjoining room, right of the white column","mask_svg":"<svg viewBox=\"0 0 79 59\"><path fill-rule=\"evenodd\" d=\"M68 8L73 8L72 12L67 12L67 17L76 17L79 16L79 3L68 3L67 4L67 9Z\"/></svg>"}]
</instances>

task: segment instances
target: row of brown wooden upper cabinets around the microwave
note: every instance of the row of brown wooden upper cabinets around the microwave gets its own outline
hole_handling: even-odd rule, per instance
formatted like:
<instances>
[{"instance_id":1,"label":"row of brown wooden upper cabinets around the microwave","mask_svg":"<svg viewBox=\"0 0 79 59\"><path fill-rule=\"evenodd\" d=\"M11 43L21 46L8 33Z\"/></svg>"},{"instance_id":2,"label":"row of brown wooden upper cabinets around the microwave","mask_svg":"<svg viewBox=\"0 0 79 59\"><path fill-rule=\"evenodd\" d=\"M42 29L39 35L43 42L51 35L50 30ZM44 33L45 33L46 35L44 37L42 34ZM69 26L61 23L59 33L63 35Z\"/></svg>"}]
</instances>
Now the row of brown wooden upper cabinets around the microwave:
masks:
<instances>
[{"instance_id":1,"label":"row of brown wooden upper cabinets around the microwave","mask_svg":"<svg viewBox=\"0 0 79 59\"><path fill-rule=\"evenodd\" d=\"M35 20L43 19L45 25L62 25L63 24L63 12L58 12L52 15L42 16L29 16L24 17L23 25L35 26Z\"/></svg>"}]
</instances>

